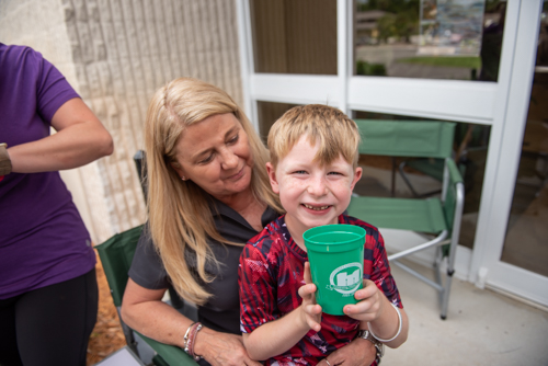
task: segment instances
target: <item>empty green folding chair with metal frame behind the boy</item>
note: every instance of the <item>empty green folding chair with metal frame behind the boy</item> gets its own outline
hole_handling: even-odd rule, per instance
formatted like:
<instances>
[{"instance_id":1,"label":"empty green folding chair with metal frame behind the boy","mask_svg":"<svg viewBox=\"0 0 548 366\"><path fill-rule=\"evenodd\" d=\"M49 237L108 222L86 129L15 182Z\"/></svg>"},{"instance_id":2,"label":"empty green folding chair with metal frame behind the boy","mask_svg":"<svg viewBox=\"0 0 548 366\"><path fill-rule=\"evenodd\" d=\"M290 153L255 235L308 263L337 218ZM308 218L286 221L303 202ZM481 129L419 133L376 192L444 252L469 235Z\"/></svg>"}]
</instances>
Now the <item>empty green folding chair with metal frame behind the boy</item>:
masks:
<instances>
[{"instance_id":1,"label":"empty green folding chair with metal frame behind the boy","mask_svg":"<svg viewBox=\"0 0 548 366\"><path fill-rule=\"evenodd\" d=\"M420 245L388 255L388 260L439 293L441 317L445 319L465 197L463 178L450 158L455 124L423 121L356 119L355 122L363 139L359 153L441 158L445 161L441 199L354 196L347 209L351 216L379 228L412 230L435 236L434 239ZM434 263L435 282L399 261L433 247L437 248ZM441 264L445 256L447 256L447 276L444 283Z\"/></svg>"}]
</instances>

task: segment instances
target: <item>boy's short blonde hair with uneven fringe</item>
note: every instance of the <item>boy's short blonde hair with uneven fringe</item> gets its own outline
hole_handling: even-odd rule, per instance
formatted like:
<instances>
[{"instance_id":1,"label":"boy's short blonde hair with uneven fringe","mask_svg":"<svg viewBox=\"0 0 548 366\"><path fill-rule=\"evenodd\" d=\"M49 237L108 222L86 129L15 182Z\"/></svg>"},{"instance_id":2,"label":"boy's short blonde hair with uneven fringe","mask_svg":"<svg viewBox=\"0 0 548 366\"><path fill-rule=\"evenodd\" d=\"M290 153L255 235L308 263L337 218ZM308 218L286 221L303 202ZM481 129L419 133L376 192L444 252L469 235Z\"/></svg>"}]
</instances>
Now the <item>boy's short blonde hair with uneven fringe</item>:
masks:
<instances>
[{"instance_id":1,"label":"boy's short blonde hair with uneven fringe","mask_svg":"<svg viewBox=\"0 0 548 366\"><path fill-rule=\"evenodd\" d=\"M323 104L295 106L274 123L267 141L271 163L277 167L305 135L311 146L320 144L315 162L326 165L342 155L353 168L357 167L361 137L356 123L340 110Z\"/></svg>"}]
</instances>

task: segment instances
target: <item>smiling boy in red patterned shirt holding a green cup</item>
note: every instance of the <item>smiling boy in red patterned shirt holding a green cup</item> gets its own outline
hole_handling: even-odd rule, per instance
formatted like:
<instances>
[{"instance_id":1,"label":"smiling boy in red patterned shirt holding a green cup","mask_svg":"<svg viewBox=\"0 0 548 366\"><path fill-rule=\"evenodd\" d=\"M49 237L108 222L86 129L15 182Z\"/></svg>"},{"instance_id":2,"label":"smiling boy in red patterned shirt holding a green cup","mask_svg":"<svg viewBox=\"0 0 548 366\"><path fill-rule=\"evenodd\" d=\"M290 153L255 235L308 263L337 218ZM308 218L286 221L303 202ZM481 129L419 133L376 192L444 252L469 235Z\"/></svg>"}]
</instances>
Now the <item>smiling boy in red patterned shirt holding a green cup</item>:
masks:
<instances>
[{"instance_id":1,"label":"smiling boy in red patterned shirt holding a green cup","mask_svg":"<svg viewBox=\"0 0 548 366\"><path fill-rule=\"evenodd\" d=\"M271 128L266 169L286 214L248 242L239 267L243 343L250 357L265 365L350 363L347 345L380 348L373 332L390 347L407 340L408 319L399 309L383 237L344 215L362 176L358 144L356 124L327 105L294 107ZM331 224L357 225L367 232L364 288L354 295L358 304L344 307L345 316L322 313L315 302L302 241L306 230ZM372 354L375 365L380 354Z\"/></svg>"}]
</instances>

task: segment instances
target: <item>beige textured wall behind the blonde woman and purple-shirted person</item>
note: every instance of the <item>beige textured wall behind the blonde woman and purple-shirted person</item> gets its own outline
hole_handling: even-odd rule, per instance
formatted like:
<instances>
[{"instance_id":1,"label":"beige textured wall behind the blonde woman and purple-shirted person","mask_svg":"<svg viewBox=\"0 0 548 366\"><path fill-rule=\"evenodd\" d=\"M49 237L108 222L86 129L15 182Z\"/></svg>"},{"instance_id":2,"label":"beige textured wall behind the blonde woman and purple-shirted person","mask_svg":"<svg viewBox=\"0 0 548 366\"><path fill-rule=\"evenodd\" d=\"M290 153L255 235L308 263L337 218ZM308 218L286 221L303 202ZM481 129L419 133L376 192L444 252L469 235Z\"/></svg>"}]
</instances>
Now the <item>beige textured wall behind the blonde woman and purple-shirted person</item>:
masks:
<instances>
[{"instance_id":1,"label":"beige textured wall behind the blonde woman and purple-shirted person","mask_svg":"<svg viewBox=\"0 0 548 366\"><path fill-rule=\"evenodd\" d=\"M195 77L242 101L233 1L0 0L0 42L41 52L113 136L68 184L98 243L146 219L133 156L159 87Z\"/></svg>"}]
</instances>

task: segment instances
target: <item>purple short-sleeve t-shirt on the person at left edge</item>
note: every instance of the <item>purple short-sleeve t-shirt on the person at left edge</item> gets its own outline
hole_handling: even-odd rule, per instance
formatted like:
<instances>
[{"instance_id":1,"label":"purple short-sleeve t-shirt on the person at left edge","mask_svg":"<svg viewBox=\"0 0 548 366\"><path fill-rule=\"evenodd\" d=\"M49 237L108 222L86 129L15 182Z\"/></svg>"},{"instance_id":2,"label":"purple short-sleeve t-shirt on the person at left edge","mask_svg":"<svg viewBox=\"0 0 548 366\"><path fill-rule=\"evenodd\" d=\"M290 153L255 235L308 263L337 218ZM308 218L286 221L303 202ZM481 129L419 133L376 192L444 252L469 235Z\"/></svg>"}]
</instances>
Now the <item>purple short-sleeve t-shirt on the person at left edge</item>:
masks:
<instances>
[{"instance_id":1,"label":"purple short-sleeve t-shirt on the person at left edge","mask_svg":"<svg viewBox=\"0 0 548 366\"><path fill-rule=\"evenodd\" d=\"M0 142L49 135L55 112L79 98L39 53L0 43ZM0 299L78 277L95 253L58 172L11 173L0 182Z\"/></svg>"}]
</instances>

